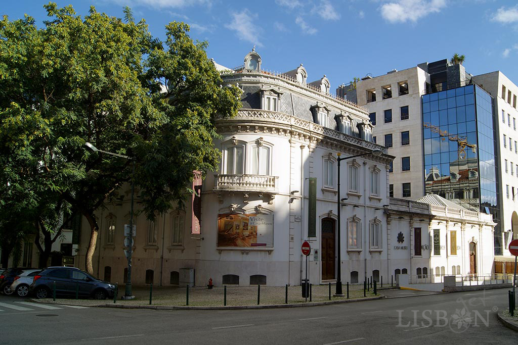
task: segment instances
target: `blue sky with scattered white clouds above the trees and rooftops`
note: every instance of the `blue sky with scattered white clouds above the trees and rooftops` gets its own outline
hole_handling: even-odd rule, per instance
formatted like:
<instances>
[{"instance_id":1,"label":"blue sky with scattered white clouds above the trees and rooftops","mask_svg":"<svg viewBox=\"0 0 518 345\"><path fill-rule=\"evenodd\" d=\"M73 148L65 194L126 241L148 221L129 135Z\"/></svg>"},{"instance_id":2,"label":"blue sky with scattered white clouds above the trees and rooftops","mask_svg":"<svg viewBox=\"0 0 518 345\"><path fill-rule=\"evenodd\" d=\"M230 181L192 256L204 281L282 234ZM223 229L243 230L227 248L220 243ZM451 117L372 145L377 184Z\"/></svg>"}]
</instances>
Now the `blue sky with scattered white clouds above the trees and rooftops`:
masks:
<instances>
[{"instance_id":1,"label":"blue sky with scattered white clouds above the trees and rooftops","mask_svg":"<svg viewBox=\"0 0 518 345\"><path fill-rule=\"evenodd\" d=\"M2 1L10 20L45 20L45 1ZM501 70L518 84L518 5L504 0L82 0L71 4L84 16L90 5L123 17L132 8L154 36L170 21L191 25L191 37L207 40L208 57L235 67L252 47L263 69L285 72L304 64L308 81L324 74L332 90L353 77L380 76L423 62L466 55L471 74Z\"/></svg>"}]
</instances>

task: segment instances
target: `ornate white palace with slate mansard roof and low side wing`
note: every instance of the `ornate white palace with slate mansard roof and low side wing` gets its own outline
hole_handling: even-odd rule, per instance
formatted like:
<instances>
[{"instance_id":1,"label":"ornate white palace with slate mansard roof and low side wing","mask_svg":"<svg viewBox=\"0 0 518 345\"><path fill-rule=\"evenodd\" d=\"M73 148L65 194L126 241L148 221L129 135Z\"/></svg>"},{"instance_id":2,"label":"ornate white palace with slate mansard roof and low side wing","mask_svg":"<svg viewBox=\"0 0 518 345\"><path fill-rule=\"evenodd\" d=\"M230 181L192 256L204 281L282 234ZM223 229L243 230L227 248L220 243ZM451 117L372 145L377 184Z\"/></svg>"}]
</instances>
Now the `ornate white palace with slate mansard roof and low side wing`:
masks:
<instances>
[{"instance_id":1,"label":"ornate white palace with slate mansard roof and low side wing","mask_svg":"<svg viewBox=\"0 0 518 345\"><path fill-rule=\"evenodd\" d=\"M308 82L303 65L266 71L254 50L240 67L214 66L223 86L242 90L242 107L236 117L216 121L222 161L203 181L199 234L192 231L189 203L185 211L171 209L154 222L137 216L134 284L205 286L212 278L215 286L299 285L304 241L311 245L313 284L336 281L338 265L343 283L366 277L387 282L400 273L494 271L491 215L433 194L418 201L389 198L394 157L372 141L368 110L331 95L325 76ZM130 218L130 193L124 194L98 214L94 255L94 273L119 283L125 280L124 224ZM83 221L75 256L80 268L87 228Z\"/></svg>"}]
</instances>

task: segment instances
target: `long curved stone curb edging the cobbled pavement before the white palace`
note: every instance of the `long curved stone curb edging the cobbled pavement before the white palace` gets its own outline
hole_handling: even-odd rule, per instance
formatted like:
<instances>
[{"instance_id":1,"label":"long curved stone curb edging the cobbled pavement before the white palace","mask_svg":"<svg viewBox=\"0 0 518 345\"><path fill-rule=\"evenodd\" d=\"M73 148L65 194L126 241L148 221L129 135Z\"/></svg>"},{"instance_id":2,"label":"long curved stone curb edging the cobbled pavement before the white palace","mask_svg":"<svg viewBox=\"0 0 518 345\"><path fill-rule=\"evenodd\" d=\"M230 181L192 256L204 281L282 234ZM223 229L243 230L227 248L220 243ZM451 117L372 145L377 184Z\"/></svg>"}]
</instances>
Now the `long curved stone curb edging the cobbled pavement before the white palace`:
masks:
<instances>
[{"instance_id":1,"label":"long curved stone curb edging the cobbled pavement before the white palace","mask_svg":"<svg viewBox=\"0 0 518 345\"><path fill-rule=\"evenodd\" d=\"M352 303L362 301L372 301L376 299L386 298L384 295L378 297L345 299L343 301L326 301L326 302L309 302L296 304L274 304L274 305L258 305L258 306L149 306L149 305L127 305L127 304L102 304L97 308L119 308L119 309L154 309L154 310L238 310L238 309L272 309L272 308L299 308L324 306L329 304Z\"/></svg>"}]
</instances>

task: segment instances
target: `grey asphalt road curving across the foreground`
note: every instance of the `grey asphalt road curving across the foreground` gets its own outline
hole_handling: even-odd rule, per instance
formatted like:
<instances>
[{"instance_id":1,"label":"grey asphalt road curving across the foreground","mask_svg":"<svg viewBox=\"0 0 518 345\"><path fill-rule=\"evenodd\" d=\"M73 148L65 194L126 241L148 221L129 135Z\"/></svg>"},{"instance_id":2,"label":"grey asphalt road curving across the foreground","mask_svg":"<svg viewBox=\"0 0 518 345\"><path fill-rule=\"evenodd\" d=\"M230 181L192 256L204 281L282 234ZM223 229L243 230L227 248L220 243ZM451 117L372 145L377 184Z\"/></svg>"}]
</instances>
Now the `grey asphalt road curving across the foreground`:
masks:
<instances>
[{"instance_id":1,"label":"grey asphalt road curving across the foreground","mask_svg":"<svg viewBox=\"0 0 518 345\"><path fill-rule=\"evenodd\" d=\"M0 296L0 343L518 343L518 333L501 325L496 317L497 310L507 307L506 289L401 296L304 308L171 311L42 309L20 304L23 299Z\"/></svg>"}]
</instances>

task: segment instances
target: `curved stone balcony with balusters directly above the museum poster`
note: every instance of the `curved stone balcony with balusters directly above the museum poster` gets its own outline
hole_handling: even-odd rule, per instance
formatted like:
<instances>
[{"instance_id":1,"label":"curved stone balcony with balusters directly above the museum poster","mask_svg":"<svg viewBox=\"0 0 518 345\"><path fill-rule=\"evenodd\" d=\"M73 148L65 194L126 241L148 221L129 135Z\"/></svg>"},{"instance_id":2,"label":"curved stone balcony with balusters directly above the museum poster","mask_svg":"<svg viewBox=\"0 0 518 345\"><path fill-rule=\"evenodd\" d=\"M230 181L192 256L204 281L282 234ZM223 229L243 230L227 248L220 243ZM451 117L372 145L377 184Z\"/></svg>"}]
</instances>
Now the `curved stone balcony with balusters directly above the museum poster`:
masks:
<instances>
[{"instance_id":1,"label":"curved stone balcony with balusters directly above the museum poster","mask_svg":"<svg viewBox=\"0 0 518 345\"><path fill-rule=\"evenodd\" d=\"M267 175L214 175L215 191L279 193L279 177Z\"/></svg>"}]
</instances>

